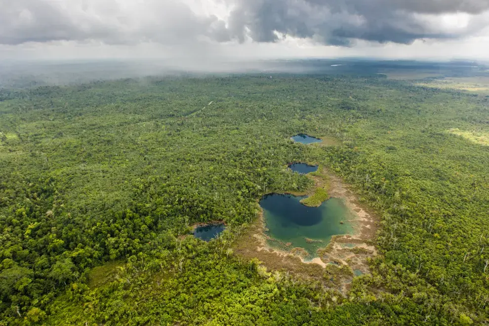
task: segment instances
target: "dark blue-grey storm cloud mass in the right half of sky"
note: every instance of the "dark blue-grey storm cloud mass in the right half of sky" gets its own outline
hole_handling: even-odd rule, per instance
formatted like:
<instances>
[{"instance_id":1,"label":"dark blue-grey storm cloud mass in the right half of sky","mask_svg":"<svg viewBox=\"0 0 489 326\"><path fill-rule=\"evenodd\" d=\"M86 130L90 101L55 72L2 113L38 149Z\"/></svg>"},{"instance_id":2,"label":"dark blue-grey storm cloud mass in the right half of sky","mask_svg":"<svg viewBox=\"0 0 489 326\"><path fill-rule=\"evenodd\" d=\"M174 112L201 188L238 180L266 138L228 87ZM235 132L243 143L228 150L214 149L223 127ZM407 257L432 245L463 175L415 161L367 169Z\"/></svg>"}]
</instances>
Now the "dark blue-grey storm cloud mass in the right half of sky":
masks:
<instances>
[{"instance_id":1,"label":"dark blue-grey storm cloud mass in the right half of sky","mask_svg":"<svg viewBox=\"0 0 489 326\"><path fill-rule=\"evenodd\" d=\"M473 19L466 28L445 31L420 15L489 10L488 0L238 0L231 14L232 33L244 41L278 41L275 31L326 44L349 45L361 39L410 43L469 35L489 24Z\"/></svg>"}]
</instances>

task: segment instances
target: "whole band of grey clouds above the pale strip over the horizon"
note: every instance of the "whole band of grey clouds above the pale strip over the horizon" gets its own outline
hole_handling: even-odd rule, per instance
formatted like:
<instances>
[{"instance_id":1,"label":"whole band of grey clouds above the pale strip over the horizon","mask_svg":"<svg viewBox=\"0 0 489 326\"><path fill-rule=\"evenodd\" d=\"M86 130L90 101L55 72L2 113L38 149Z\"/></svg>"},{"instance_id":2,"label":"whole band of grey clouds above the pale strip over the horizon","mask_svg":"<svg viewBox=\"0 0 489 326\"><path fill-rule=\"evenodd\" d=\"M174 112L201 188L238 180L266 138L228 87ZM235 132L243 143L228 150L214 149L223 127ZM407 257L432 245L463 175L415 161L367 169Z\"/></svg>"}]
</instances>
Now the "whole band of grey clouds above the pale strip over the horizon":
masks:
<instances>
[{"instance_id":1,"label":"whole band of grey clouds above the pale strip over the horizon","mask_svg":"<svg viewBox=\"0 0 489 326\"><path fill-rule=\"evenodd\" d=\"M181 0L0 0L0 44L100 41L411 43L457 39L489 25L488 0L228 0L219 18ZM195 4L195 2L194 2ZM210 7L212 8L212 6Z\"/></svg>"}]
</instances>

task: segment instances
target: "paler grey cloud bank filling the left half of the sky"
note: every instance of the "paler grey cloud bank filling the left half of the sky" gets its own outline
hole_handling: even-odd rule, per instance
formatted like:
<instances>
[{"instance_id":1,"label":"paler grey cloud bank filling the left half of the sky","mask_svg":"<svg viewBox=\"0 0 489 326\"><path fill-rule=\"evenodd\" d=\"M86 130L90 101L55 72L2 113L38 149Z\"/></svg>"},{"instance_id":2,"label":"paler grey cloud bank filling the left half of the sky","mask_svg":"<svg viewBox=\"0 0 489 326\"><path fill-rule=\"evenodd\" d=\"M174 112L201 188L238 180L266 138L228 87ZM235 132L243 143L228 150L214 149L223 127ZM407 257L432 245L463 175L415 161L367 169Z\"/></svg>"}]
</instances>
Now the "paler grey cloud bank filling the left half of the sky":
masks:
<instances>
[{"instance_id":1,"label":"paler grey cloud bank filling the left half of the sky","mask_svg":"<svg viewBox=\"0 0 489 326\"><path fill-rule=\"evenodd\" d=\"M0 44L87 41L133 44L229 41L225 23L198 16L177 0L144 0L123 8L115 0L0 0Z\"/></svg>"}]
</instances>

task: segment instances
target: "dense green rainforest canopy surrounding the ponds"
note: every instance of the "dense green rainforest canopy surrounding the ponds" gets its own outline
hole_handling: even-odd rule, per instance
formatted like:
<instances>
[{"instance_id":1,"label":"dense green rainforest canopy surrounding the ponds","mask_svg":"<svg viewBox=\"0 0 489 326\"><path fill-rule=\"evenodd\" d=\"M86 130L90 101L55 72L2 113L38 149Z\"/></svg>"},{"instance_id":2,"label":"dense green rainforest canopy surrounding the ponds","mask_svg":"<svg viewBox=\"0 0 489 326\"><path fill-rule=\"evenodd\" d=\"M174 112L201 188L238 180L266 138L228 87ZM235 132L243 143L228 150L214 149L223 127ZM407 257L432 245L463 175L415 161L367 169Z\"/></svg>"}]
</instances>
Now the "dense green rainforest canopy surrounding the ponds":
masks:
<instances>
[{"instance_id":1,"label":"dense green rainforest canopy surrounding the ponds","mask_svg":"<svg viewBox=\"0 0 489 326\"><path fill-rule=\"evenodd\" d=\"M488 323L489 146L448 130L488 132L489 97L384 77L1 89L0 325ZM300 161L379 220L346 295L233 252L262 195L311 186Z\"/></svg>"}]
</instances>

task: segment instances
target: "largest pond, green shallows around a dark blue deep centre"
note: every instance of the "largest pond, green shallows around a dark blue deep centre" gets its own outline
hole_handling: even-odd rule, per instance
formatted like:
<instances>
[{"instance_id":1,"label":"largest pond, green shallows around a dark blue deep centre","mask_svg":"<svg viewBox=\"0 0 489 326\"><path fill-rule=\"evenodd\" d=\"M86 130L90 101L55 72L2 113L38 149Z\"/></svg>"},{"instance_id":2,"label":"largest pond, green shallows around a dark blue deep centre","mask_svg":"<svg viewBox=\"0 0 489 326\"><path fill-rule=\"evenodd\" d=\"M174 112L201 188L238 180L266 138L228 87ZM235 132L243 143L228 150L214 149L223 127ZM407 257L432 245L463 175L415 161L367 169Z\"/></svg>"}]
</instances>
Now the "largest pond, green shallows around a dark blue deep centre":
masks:
<instances>
[{"instance_id":1,"label":"largest pond, green shallows around a dark blue deep centre","mask_svg":"<svg viewBox=\"0 0 489 326\"><path fill-rule=\"evenodd\" d=\"M299 202L305 197L271 194L261 199L260 206L267 235L280 242L271 240L270 245L285 250L302 247L313 258L332 236L353 233L353 226L347 222L353 215L339 198L330 198L319 207L308 207Z\"/></svg>"}]
</instances>

